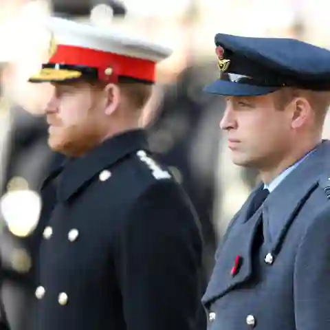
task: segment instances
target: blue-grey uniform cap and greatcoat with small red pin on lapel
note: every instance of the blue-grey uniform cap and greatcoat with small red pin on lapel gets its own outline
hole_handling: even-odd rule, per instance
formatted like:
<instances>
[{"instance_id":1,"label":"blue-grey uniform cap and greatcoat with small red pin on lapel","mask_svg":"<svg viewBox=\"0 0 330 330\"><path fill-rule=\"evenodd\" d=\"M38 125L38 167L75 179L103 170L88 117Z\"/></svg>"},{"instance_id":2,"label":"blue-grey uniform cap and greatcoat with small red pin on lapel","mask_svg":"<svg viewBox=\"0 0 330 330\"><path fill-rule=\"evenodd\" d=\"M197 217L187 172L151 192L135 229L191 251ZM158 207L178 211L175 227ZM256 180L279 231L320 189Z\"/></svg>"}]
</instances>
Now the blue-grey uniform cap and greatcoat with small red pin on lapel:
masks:
<instances>
[{"instance_id":1,"label":"blue-grey uniform cap and greatcoat with small red pin on lapel","mask_svg":"<svg viewBox=\"0 0 330 330\"><path fill-rule=\"evenodd\" d=\"M216 45L221 73L210 93L329 90L327 50L223 34ZM208 329L330 329L329 164L330 142L323 141L259 203L265 189L256 187L234 216L202 298Z\"/></svg>"}]
</instances>

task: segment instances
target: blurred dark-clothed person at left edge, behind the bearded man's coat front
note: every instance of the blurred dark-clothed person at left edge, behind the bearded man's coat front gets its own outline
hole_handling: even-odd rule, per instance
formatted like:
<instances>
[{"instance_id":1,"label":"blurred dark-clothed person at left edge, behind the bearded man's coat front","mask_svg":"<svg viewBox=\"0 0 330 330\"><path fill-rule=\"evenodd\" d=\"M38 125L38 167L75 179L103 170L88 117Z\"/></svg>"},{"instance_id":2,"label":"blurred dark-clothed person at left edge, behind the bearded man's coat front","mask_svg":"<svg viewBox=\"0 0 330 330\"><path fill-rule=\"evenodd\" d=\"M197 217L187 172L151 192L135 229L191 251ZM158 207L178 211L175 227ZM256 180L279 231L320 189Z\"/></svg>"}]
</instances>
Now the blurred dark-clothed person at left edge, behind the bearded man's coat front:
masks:
<instances>
[{"instance_id":1,"label":"blurred dark-clothed person at left edge, behind the bearded man's coat front","mask_svg":"<svg viewBox=\"0 0 330 330\"><path fill-rule=\"evenodd\" d=\"M31 115L18 105L11 107L10 118L10 131L6 142L8 155L1 181L4 206L1 211L5 217L5 227L0 240L5 272L3 300L12 330L26 330L34 295L34 260L45 223L36 223L39 219L36 218L36 213L39 214L41 203L39 205L36 201L36 209L30 204L25 212L23 205L26 204L26 199L32 198L33 203L33 200L39 197L43 179L63 156L50 151L47 146L47 131L43 118ZM30 197L20 195L21 192L30 193ZM36 193L38 197L34 198ZM51 205L54 198L54 191L48 189L43 195L43 203ZM23 210L20 210L17 217L13 211L10 211L11 214L7 211L8 207Z\"/></svg>"}]
</instances>

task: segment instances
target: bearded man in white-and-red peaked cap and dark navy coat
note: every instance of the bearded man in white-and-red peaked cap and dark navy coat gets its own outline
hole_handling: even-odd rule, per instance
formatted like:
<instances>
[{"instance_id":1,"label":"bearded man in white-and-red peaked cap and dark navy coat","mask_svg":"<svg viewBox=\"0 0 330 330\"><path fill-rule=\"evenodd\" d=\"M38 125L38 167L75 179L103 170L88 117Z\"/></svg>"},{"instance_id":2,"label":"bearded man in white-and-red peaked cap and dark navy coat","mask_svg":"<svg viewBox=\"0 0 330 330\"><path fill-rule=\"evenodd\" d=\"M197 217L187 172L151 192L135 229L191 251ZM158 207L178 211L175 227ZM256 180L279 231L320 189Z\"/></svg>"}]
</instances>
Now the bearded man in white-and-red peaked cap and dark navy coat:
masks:
<instances>
[{"instance_id":1,"label":"bearded man in white-and-red peaked cap and dark navy coat","mask_svg":"<svg viewBox=\"0 0 330 330\"><path fill-rule=\"evenodd\" d=\"M51 19L48 143L68 160L38 261L35 330L194 329L201 236L195 210L139 128L157 45Z\"/></svg>"}]
</instances>

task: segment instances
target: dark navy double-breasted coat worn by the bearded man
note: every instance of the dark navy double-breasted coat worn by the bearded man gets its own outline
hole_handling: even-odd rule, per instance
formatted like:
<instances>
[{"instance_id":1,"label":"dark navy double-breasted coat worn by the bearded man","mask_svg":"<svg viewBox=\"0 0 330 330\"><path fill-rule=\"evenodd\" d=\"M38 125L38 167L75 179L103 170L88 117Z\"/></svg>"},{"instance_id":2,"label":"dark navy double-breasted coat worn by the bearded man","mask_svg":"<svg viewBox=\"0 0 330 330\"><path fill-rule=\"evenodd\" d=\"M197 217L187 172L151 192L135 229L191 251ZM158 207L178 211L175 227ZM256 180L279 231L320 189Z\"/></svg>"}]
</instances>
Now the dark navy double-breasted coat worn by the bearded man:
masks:
<instances>
[{"instance_id":1,"label":"dark navy double-breasted coat worn by the bearded man","mask_svg":"<svg viewBox=\"0 0 330 330\"><path fill-rule=\"evenodd\" d=\"M33 329L193 329L199 225L179 184L151 159L144 132L69 160L44 188L54 180Z\"/></svg>"}]
</instances>

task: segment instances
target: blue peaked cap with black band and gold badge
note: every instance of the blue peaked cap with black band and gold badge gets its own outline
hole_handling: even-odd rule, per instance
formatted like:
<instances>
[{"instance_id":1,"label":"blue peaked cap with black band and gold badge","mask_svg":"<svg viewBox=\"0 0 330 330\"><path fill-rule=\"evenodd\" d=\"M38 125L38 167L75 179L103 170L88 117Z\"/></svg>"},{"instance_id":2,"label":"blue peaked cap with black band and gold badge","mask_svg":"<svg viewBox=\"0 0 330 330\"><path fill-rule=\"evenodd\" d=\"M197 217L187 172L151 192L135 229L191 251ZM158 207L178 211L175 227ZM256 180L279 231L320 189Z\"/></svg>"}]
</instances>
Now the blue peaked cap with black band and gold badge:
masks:
<instances>
[{"instance_id":1,"label":"blue peaked cap with black band and gold badge","mask_svg":"<svg viewBox=\"0 0 330 330\"><path fill-rule=\"evenodd\" d=\"M258 96L281 87L330 90L330 52L284 38L217 34L219 79L204 88L209 94Z\"/></svg>"}]
</instances>

